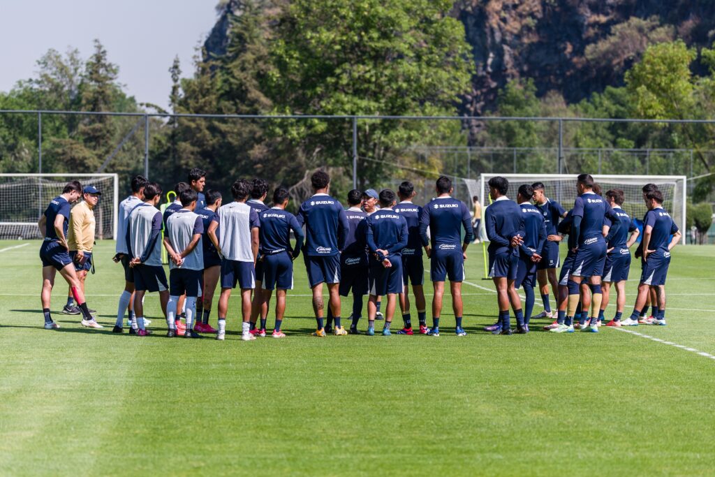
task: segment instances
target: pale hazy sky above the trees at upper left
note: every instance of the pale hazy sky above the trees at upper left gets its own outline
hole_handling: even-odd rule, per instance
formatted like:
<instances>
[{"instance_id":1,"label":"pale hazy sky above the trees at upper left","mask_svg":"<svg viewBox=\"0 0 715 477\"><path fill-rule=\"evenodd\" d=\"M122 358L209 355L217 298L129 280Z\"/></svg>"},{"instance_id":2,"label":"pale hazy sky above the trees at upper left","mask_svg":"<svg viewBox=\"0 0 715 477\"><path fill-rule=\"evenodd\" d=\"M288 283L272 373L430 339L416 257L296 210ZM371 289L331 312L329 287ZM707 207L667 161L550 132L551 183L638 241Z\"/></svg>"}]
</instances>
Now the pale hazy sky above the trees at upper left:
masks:
<instances>
[{"instance_id":1,"label":"pale hazy sky above the trees at upper left","mask_svg":"<svg viewBox=\"0 0 715 477\"><path fill-rule=\"evenodd\" d=\"M217 20L218 0L0 0L0 91L36 72L36 61L68 46L83 59L97 38L119 82L137 102L166 108L168 69L179 55L182 76L193 72L192 56Z\"/></svg>"}]
</instances>

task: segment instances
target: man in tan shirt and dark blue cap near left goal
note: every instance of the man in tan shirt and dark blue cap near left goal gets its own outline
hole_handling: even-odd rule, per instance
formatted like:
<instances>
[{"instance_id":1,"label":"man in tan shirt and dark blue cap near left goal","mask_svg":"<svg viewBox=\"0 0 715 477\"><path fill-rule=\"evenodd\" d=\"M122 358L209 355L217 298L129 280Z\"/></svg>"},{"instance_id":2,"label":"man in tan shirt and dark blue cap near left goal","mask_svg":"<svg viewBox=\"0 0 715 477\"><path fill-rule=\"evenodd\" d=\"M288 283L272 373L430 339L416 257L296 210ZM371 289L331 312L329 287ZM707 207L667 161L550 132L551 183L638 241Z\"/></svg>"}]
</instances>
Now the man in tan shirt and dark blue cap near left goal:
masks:
<instances>
[{"instance_id":1,"label":"man in tan shirt and dark blue cap near left goal","mask_svg":"<svg viewBox=\"0 0 715 477\"><path fill-rule=\"evenodd\" d=\"M84 200L77 202L69 212L69 233L67 245L69 246L69 257L74 262L74 269L77 270L79 284L84 293L84 280L87 279L87 272L92 269L92 247L94 247L94 230L96 222L94 220L94 207L99 202L99 192L96 187L88 185L84 187L82 197ZM89 310L94 313L94 310ZM79 315L79 308L74 306L72 291L69 290L67 304L62 310L66 315Z\"/></svg>"}]
</instances>

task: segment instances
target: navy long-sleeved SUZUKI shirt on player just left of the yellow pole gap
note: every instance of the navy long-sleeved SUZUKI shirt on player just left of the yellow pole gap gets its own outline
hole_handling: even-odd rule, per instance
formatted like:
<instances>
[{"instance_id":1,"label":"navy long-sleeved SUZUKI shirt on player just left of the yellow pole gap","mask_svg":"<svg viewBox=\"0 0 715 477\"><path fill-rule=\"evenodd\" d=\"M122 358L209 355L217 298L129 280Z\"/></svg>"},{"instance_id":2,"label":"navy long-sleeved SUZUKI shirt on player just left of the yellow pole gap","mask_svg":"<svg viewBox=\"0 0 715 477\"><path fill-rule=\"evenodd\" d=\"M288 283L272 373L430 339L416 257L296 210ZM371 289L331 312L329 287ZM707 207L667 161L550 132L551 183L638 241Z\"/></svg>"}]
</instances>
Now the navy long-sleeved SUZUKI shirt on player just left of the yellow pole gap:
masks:
<instances>
[{"instance_id":1,"label":"navy long-sleeved SUZUKI shirt on player just left of the yellow pole gap","mask_svg":"<svg viewBox=\"0 0 715 477\"><path fill-rule=\"evenodd\" d=\"M431 237L427 237L427 227ZM462 227L464 227L464 243L474 240L472 216L469 209L454 197L437 197L425 205L420 217L420 239L425 247L431 242L435 250L460 250L462 244ZM440 247L443 245L443 247Z\"/></svg>"}]
</instances>

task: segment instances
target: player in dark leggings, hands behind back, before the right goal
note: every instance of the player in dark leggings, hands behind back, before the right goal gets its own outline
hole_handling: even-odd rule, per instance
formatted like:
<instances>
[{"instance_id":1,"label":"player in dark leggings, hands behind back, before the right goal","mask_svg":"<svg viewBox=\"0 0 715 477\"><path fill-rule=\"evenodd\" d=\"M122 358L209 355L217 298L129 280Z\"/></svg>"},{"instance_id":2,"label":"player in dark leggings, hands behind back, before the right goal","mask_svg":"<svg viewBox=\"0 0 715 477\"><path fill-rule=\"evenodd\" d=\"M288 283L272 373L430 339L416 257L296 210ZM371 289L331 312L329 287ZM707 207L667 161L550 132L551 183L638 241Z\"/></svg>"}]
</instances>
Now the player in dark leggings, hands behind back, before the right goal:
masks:
<instances>
[{"instance_id":1,"label":"player in dark leggings, hands behind back, before the right goal","mask_svg":"<svg viewBox=\"0 0 715 477\"><path fill-rule=\"evenodd\" d=\"M516 333L526 334L529 332L529 321L531 311L536 301L534 295L534 285L536 285L536 266L543 260L540 253L546 242L546 225L544 223L541 210L531 205L533 189L531 185L521 185L516 194L516 202L521 208L523 218L524 236L523 243L519 247L519 264L516 272L515 288L524 288L526 296L524 306L523 322L519 323L518 315L516 320Z\"/></svg>"}]
</instances>

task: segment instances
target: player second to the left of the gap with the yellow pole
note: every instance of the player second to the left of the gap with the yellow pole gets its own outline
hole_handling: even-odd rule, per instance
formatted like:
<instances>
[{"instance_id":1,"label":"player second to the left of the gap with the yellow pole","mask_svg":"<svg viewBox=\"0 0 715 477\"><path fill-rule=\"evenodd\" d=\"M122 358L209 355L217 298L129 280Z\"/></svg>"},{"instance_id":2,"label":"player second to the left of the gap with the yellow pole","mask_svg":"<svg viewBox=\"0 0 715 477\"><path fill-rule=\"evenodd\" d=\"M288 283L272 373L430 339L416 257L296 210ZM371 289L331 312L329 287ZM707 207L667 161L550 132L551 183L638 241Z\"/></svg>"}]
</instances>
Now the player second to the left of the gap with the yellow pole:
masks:
<instances>
[{"instance_id":1,"label":"player second to the left of the gap with the yellow pole","mask_svg":"<svg viewBox=\"0 0 715 477\"><path fill-rule=\"evenodd\" d=\"M400 203L395 206L395 212L405 217L408 227L407 246L402 251L403 265L403 291L400 292L400 310L402 310L405 328L398 331L398 335L412 335L412 316L410 315L409 287L415 294L415 308L420 322L420 333L426 335L427 328L427 302L425 300L425 264L422 261L422 240L420 239L420 217L422 207L413 204L415 186L412 182L405 181L398 189ZM474 229L476 230L476 229Z\"/></svg>"}]
</instances>

